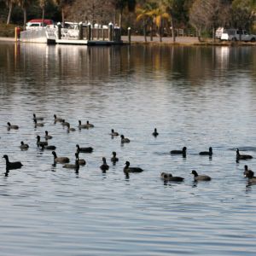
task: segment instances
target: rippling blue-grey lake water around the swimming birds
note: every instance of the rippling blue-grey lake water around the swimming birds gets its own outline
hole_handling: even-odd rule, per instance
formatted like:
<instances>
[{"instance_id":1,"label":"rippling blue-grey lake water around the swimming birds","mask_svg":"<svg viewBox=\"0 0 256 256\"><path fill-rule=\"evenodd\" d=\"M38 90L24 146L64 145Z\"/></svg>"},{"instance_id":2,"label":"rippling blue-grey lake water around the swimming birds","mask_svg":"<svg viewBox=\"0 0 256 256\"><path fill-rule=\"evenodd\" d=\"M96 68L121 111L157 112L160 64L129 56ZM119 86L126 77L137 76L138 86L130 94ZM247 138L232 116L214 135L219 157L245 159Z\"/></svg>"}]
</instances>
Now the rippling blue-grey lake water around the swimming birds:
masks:
<instances>
[{"instance_id":1,"label":"rippling blue-grey lake water around the swimming birds","mask_svg":"<svg viewBox=\"0 0 256 256\"><path fill-rule=\"evenodd\" d=\"M245 164L256 169L255 67L254 47L1 43L0 155L24 165L7 173L0 160L1 254L255 255L256 186L243 177ZM79 119L95 128L79 131ZM79 173L38 149L46 130L71 162L77 143L94 148L80 154ZM183 146L185 159L170 154ZM210 146L212 160L198 154ZM253 160L236 163L236 148ZM125 177L126 160L144 172ZM212 181L195 183L193 169ZM164 183L160 172L184 182Z\"/></svg>"}]
</instances>

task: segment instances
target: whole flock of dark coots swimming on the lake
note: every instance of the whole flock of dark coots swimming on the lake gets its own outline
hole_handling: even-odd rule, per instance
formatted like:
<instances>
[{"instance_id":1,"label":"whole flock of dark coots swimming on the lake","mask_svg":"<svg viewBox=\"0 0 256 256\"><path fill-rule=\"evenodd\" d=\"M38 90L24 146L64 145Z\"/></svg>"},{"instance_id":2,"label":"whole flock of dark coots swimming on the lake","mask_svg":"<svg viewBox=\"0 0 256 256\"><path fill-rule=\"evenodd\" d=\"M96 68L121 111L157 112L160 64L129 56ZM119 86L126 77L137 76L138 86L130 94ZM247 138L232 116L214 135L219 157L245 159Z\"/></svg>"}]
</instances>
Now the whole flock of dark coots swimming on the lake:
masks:
<instances>
[{"instance_id":1,"label":"whole flock of dark coots swimming on the lake","mask_svg":"<svg viewBox=\"0 0 256 256\"><path fill-rule=\"evenodd\" d=\"M43 120L44 120L43 117L37 117L36 114L33 113L33 121L34 121L35 127L43 127L44 123L38 122L38 121L43 121ZM54 121L55 121L55 123L59 122L59 123L61 123L61 125L67 126L67 132L76 131L76 129L72 128L70 126L70 124L65 119L58 118L55 114L54 114ZM94 127L94 125L90 124L90 122L88 120L86 121L86 124L82 124L82 121L79 120L79 125L78 125L79 130L90 129L93 127ZM18 130L19 125L11 125L10 122L8 122L7 128L9 130L11 130L11 129ZM119 132L114 131L112 129L110 132L110 135L112 137L119 137ZM154 132L152 133L152 135L154 137L159 136L159 132L157 131L156 128L154 128ZM69 158L67 158L65 156L57 156L57 154L55 152L56 147L54 145L48 144L48 140L51 138L52 138L52 136L49 135L49 131L45 131L45 136L44 136L45 141L41 141L41 137L37 136L37 146L42 149L53 150L52 154L54 155L54 165L57 163L60 163L60 164L63 164L63 168L73 169L76 172L79 172L79 166L86 165L86 161L84 159L79 159L79 153L92 153L93 152L93 148L91 148L91 147L80 148L79 144L77 144L76 145L77 151L75 153L75 163L69 164L69 161L70 161ZM130 143L130 139L125 137L123 134L120 135L120 138L121 138L120 139L121 143ZM26 150L28 148L29 148L28 144L24 143L23 141L20 142L21 150ZM172 151L170 151L170 154L181 154L185 158L186 154L187 154L187 148L183 147L181 150L172 150ZM212 157L212 147L210 147L208 151L202 151L199 154L200 155L208 155L211 158ZM8 172L9 172L9 170L19 169L23 166L20 161L10 162L9 156L7 154L4 154L3 158L6 161L6 170ZM252 158L253 158L252 155L240 154L239 149L236 148L236 161L248 160L248 159L252 159ZM116 156L116 152L113 152L113 157L111 158L111 161L113 162L113 164L115 164L118 160L119 159ZM247 166L244 166L244 167L245 167L244 176L248 178L249 183L256 183L256 177L254 177L254 172L252 170L249 170ZM102 166L100 166L100 168L102 169L102 172L107 172L109 169L109 166L107 164L107 160L105 157L102 157ZM143 169L140 167L131 167L130 162L126 161L125 167L124 167L124 173L125 173L126 177L129 177L129 173L132 173L132 172L143 172ZM199 175L195 170L193 170L191 172L191 174L194 175L195 181L210 181L212 179L211 177L209 177L207 175ZM167 172L161 172L160 177L165 182L183 182L183 180L184 180L183 177L175 177L175 176L172 176L172 173L167 173Z\"/></svg>"}]
</instances>

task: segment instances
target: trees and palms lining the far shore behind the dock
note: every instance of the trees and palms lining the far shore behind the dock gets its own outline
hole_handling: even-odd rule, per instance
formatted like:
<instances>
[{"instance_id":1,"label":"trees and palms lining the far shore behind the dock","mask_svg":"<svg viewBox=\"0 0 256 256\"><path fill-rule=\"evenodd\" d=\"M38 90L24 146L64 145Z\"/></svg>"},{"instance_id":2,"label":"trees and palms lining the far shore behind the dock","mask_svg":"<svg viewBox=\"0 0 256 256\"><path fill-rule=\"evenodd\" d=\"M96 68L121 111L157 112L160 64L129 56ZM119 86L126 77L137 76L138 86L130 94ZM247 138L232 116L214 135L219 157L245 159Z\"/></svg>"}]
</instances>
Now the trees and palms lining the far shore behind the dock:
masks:
<instances>
[{"instance_id":1,"label":"trees and palms lining the far shore behind the dock","mask_svg":"<svg viewBox=\"0 0 256 256\"><path fill-rule=\"evenodd\" d=\"M7 25L25 26L33 18L111 21L123 31L131 26L145 40L169 35L175 41L181 29L211 37L218 26L256 32L255 17L256 0L0 0L0 23Z\"/></svg>"}]
</instances>

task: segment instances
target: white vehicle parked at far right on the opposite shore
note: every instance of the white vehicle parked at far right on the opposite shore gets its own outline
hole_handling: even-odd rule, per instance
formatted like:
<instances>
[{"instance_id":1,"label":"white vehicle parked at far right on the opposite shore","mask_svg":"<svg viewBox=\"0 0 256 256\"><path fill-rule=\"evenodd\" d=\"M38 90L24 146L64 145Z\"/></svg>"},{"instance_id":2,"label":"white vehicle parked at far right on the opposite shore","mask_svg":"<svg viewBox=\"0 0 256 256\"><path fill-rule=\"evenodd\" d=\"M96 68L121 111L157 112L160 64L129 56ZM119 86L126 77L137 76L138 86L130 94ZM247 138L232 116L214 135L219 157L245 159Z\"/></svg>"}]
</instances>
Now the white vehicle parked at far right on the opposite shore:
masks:
<instances>
[{"instance_id":1,"label":"white vehicle parked at far right on the opposite shore","mask_svg":"<svg viewBox=\"0 0 256 256\"><path fill-rule=\"evenodd\" d=\"M255 42L256 35L248 34L247 31L243 29L230 28L224 29L220 39L226 41Z\"/></svg>"}]
</instances>

